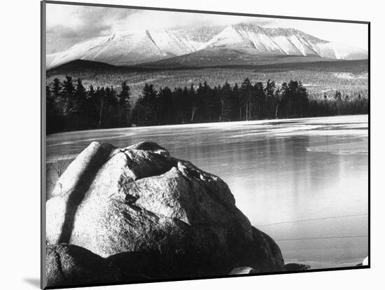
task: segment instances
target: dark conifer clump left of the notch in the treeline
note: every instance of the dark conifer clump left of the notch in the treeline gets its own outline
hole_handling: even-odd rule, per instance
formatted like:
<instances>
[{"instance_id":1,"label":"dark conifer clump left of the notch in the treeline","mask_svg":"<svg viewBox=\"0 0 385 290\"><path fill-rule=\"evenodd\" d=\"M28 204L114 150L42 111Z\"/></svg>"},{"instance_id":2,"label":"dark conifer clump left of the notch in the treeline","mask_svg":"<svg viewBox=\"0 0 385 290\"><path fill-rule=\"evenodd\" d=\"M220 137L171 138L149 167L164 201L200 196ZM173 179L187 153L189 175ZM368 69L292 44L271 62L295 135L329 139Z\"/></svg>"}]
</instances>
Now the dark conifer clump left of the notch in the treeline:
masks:
<instances>
[{"instance_id":1,"label":"dark conifer clump left of the notch in the treeline","mask_svg":"<svg viewBox=\"0 0 385 290\"><path fill-rule=\"evenodd\" d=\"M85 89L80 78L58 78L45 87L47 134L130 125L130 87L124 82L118 92L113 86Z\"/></svg>"}]
</instances>

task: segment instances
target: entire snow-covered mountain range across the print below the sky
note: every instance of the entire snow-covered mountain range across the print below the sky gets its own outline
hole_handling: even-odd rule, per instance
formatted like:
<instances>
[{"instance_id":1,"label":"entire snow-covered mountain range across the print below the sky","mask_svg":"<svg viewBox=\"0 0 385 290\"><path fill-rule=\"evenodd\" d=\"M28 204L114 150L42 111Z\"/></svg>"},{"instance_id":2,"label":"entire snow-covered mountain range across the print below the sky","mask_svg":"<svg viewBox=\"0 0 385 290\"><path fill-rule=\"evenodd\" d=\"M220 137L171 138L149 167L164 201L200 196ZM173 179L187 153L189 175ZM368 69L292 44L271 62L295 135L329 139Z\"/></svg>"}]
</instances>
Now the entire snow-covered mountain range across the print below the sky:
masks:
<instances>
[{"instance_id":1,"label":"entire snow-covered mountain range across the print below the sky","mask_svg":"<svg viewBox=\"0 0 385 290\"><path fill-rule=\"evenodd\" d=\"M47 69L73 60L113 65L225 65L367 59L367 51L291 28L255 23L227 27L135 30L100 36L47 55Z\"/></svg>"}]
</instances>

